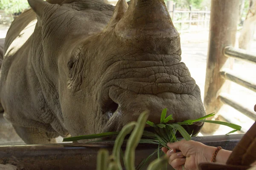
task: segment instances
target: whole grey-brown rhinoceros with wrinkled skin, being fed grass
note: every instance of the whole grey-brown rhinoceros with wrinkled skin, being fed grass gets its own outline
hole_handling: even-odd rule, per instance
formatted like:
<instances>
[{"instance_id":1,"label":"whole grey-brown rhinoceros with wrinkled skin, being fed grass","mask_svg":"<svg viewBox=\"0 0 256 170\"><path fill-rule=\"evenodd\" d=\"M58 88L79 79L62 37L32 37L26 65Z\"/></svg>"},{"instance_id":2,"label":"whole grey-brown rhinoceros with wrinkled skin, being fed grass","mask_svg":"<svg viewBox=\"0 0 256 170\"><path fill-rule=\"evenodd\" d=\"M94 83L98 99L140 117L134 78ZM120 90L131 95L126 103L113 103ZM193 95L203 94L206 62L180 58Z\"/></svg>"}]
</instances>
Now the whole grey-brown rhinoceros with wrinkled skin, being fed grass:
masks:
<instances>
[{"instance_id":1,"label":"whole grey-brown rhinoceros with wrinkled skin, being fed grass","mask_svg":"<svg viewBox=\"0 0 256 170\"><path fill-rule=\"evenodd\" d=\"M119 131L145 110L155 123L163 108L170 122L206 114L163 0L28 2L0 72L4 118L27 144Z\"/></svg>"}]
</instances>

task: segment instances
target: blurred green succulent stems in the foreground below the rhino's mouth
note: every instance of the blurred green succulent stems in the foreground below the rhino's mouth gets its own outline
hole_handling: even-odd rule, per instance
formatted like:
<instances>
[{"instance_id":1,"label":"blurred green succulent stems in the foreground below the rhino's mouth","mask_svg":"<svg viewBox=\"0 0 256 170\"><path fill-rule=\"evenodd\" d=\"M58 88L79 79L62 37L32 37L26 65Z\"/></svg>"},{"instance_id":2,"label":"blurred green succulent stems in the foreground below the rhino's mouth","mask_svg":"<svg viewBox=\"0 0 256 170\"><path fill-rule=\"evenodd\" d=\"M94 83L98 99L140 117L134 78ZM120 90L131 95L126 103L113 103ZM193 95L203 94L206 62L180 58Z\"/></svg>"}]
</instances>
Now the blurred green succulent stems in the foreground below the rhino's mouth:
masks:
<instances>
[{"instance_id":1,"label":"blurred green succulent stems in the foreground below the rhino's mouth","mask_svg":"<svg viewBox=\"0 0 256 170\"><path fill-rule=\"evenodd\" d=\"M125 167L127 170L135 170L135 149L139 144L140 138L143 135L145 122L148 118L148 112L141 113L137 122L130 122L125 125L116 138L112 155L108 155L108 150L100 149L97 156L97 170L122 170L121 161L119 159L121 145L125 136L132 131L131 136L128 139L125 150ZM162 157L152 161L148 170L160 170L166 165L168 159Z\"/></svg>"}]
</instances>

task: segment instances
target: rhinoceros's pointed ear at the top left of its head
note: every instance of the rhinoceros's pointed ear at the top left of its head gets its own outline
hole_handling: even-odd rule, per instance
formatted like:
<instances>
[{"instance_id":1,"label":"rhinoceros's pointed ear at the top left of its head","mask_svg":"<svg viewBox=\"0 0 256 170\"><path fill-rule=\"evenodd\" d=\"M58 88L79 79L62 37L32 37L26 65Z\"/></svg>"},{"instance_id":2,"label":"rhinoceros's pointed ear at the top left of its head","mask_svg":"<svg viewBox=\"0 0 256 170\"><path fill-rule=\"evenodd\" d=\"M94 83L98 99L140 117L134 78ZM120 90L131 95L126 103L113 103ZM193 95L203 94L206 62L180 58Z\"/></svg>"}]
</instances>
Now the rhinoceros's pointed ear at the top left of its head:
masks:
<instances>
[{"instance_id":1,"label":"rhinoceros's pointed ear at the top left of its head","mask_svg":"<svg viewBox=\"0 0 256 170\"><path fill-rule=\"evenodd\" d=\"M47 6L53 6L53 4L47 3L44 0L28 0L29 5L35 11L35 13L41 17L44 11L44 8Z\"/></svg>"}]
</instances>

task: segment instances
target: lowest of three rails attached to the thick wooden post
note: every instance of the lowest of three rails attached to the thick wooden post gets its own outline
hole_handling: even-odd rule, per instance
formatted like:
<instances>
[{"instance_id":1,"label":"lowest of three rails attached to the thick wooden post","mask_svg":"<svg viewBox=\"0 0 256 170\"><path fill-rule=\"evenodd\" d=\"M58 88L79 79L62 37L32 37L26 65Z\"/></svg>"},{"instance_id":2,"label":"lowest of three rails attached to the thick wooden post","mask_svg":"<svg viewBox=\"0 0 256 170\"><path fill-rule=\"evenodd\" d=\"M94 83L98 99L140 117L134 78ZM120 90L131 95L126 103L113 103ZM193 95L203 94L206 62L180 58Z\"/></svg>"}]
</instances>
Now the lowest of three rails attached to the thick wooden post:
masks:
<instances>
[{"instance_id":1,"label":"lowest of three rails attached to the thick wooden post","mask_svg":"<svg viewBox=\"0 0 256 170\"><path fill-rule=\"evenodd\" d=\"M242 106L239 102L233 100L233 98L229 94L221 93L218 96L218 99L220 99L222 103L227 104L232 108L236 109L237 111L243 113L250 119L253 119L254 121L256 120L256 113L252 109Z\"/></svg>"}]
</instances>

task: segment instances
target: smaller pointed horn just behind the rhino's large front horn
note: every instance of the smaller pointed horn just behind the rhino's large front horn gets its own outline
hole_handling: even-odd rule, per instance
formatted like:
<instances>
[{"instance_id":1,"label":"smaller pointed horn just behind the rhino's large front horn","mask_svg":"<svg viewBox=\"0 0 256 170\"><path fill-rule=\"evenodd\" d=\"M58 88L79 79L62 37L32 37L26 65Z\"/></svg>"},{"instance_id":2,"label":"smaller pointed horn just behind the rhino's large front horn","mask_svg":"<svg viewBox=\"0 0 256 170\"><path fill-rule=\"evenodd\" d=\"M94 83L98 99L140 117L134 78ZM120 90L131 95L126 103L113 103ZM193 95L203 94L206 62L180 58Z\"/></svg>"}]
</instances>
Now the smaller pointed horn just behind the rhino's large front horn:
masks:
<instances>
[{"instance_id":1,"label":"smaller pointed horn just behind the rhino's large front horn","mask_svg":"<svg viewBox=\"0 0 256 170\"><path fill-rule=\"evenodd\" d=\"M116 23L121 20L121 18L124 16L126 10L128 8L128 4L126 0L118 0L116 3L115 10L113 11L113 15L111 17L110 22L108 23L107 28L111 28L116 25Z\"/></svg>"}]
</instances>

